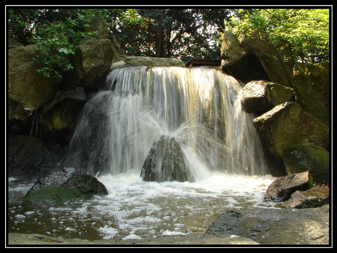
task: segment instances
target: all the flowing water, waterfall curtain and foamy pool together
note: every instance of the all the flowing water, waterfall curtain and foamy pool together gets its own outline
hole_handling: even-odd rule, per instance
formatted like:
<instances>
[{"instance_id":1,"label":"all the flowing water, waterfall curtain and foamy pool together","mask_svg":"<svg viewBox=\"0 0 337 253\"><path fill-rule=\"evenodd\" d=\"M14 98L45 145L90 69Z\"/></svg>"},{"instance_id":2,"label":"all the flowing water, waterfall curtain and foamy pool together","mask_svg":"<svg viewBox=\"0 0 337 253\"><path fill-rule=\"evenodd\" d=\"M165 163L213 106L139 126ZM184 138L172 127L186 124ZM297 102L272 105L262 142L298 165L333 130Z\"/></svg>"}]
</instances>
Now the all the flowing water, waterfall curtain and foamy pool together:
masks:
<instances>
[{"instance_id":1,"label":"all the flowing water, waterfall curtain and foamy pool together","mask_svg":"<svg viewBox=\"0 0 337 253\"><path fill-rule=\"evenodd\" d=\"M24 203L35 181L8 181L9 232L82 239L148 239L202 233L228 208L276 208L263 200L275 179L238 82L208 67L124 67L86 103L69 167L96 176L109 194ZM181 148L192 182L146 182L143 163L161 136Z\"/></svg>"}]
</instances>

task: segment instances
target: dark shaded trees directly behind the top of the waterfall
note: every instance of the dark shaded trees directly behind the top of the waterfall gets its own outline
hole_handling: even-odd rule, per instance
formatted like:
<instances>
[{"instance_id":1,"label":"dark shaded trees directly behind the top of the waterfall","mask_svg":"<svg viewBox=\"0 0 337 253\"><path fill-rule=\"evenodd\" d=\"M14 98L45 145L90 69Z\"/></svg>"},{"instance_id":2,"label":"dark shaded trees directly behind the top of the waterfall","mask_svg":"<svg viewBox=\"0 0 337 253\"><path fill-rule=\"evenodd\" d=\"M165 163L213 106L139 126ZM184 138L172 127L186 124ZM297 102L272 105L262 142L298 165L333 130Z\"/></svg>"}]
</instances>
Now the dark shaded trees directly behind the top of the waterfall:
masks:
<instances>
[{"instance_id":1,"label":"dark shaded trees directly behind the top of the waterfall","mask_svg":"<svg viewBox=\"0 0 337 253\"><path fill-rule=\"evenodd\" d=\"M216 59L228 9L111 9L110 31L126 54Z\"/></svg>"}]
</instances>

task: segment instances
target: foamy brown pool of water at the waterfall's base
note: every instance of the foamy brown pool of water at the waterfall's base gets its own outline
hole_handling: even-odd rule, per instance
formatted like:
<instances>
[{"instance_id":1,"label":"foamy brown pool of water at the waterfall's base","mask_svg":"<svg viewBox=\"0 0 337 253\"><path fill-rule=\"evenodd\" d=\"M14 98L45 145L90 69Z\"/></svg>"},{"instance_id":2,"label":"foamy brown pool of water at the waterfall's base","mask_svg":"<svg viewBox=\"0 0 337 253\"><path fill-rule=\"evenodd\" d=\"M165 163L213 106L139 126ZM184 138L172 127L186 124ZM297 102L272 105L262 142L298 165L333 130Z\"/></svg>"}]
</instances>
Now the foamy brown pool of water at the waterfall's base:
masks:
<instances>
[{"instance_id":1,"label":"foamy brown pool of water at the waterfall's base","mask_svg":"<svg viewBox=\"0 0 337 253\"><path fill-rule=\"evenodd\" d=\"M226 209L278 208L263 199L275 180L212 173L189 182L145 182L139 175L99 176L109 194L89 200L27 203L35 181L8 179L8 232L86 240L150 239L203 233Z\"/></svg>"}]
</instances>

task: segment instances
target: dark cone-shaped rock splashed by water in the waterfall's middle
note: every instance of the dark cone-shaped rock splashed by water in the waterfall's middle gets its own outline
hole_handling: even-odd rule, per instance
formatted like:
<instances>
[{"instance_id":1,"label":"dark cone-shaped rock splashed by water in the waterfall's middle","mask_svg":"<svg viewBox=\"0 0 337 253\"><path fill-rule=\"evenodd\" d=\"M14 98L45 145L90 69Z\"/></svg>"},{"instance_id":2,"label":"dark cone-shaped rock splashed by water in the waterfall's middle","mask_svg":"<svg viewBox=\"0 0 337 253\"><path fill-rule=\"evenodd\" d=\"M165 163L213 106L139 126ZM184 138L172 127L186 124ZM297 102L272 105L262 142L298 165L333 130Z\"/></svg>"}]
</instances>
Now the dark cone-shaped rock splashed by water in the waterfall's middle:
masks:
<instances>
[{"instance_id":1,"label":"dark cone-shaped rock splashed by water in the waterfall's middle","mask_svg":"<svg viewBox=\"0 0 337 253\"><path fill-rule=\"evenodd\" d=\"M162 136L145 159L140 177L145 181L193 182L185 164L179 143L173 137Z\"/></svg>"}]
</instances>

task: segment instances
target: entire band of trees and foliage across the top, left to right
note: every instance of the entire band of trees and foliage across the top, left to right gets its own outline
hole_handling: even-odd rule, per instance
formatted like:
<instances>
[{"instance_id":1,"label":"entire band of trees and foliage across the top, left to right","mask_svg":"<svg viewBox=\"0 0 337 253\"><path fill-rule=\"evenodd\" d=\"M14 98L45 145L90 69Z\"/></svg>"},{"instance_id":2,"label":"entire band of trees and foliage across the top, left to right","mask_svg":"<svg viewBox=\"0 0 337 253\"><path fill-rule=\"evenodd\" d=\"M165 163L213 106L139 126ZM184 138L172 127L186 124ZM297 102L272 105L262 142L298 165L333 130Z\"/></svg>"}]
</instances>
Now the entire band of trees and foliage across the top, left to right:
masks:
<instances>
[{"instance_id":1,"label":"entire band of trees and foliage across the top, left to right","mask_svg":"<svg viewBox=\"0 0 337 253\"><path fill-rule=\"evenodd\" d=\"M222 32L231 29L276 50L280 41L293 62L329 61L329 9L19 9L8 8L8 38L38 44L41 72L61 77L69 55L92 38L94 16L107 22L109 38L132 56L219 59Z\"/></svg>"}]
</instances>

